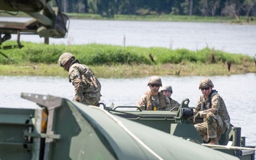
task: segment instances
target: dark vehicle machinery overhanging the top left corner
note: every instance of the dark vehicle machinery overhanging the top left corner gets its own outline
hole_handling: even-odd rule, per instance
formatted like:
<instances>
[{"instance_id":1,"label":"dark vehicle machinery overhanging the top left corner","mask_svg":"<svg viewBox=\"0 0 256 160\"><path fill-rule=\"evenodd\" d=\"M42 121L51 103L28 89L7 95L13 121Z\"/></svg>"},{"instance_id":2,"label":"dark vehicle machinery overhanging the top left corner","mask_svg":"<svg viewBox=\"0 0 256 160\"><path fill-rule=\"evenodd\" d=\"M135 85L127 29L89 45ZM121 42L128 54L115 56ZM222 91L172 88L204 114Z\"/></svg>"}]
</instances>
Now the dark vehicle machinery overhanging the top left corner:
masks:
<instances>
[{"instance_id":1,"label":"dark vehicle machinery overhanging the top left corner","mask_svg":"<svg viewBox=\"0 0 256 160\"><path fill-rule=\"evenodd\" d=\"M19 12L23 12L31 17L31 20L26 22L0 21L0 47L11 39L11 34L17 35L18 43L16 46L2 46L1 49L22 48L21 34L38 35L45 38L45 43L49 43L49 38L65 38L68 35L69 18L61 13L58 1L55 1L57 7L51 7L50 2L53 1L0 0L1 13L17 17Z\"/></svg>"}]
</instances>

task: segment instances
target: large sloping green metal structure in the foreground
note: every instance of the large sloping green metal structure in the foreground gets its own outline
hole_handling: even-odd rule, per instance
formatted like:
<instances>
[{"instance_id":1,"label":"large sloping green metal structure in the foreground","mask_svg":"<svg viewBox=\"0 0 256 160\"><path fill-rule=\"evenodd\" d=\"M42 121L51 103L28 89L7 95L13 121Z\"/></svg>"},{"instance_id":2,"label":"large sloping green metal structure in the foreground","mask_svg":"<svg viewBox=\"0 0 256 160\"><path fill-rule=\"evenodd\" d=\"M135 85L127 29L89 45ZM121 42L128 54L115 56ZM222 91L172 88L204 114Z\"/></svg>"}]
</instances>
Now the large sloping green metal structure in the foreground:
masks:
<instances>
[{"instance_id":1,"label":"large sloping green metal structure in the foreground","mask_svg":"<svg viewBox=\"0 0 256 160\"><path fill-rule=\"evenodd\" d=\"M8 146L6 142L9 139L17 139L17 143L27 144L20 145L20 148L17 146L17 149L12 151L14 155L12 157L9 155L11 151L2 151L1 160L17 157L18 159L238 159L159 129L132 122L99 107L86 106L50 95L23 93L21 97L47 108L47 131L41 133L40 127L39 130L36 127L36 119L40 116L35 110L15 108L9 111L10 109L0 108L1 114L4 115L0 121L1 135L6 135L1 137L1 147ZM7 111L12 112L11 117L7 116ZM13 127L9 127L11 125ZM41 137L40 145L34 142L38 137ZM39 148L34 147L35 144Z\"/></svg>"}]
</instances>

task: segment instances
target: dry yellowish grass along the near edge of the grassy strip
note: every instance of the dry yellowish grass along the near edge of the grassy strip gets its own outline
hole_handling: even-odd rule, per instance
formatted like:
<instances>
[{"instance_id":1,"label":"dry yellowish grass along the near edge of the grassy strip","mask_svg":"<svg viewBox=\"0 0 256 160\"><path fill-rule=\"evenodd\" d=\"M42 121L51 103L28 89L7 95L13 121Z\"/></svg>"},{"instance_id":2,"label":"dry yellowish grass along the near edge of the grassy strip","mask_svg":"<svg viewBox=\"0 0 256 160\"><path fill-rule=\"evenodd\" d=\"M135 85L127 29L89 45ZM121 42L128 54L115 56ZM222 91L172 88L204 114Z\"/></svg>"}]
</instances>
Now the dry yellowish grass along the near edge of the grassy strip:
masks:
<instances>
[{"instance_id":1,"label":"dry yellowish grass along the near edge of the grassy strip","mask_svg":"<svg viewBox=\"0 0 256 160\"><path fill-rule=\"evenodd\" d=\"M255 64L232 65L228 71L227 65L203 63L186 63L184 65L166 63L164 65L89 65L98 78L142 78L151 75L174 76L213 76L256 73ZM0 75L31 75L60 76L68 78L68 73L56 64L30 63L26 65L0 65Z\"/></svg>"}]
</instances>

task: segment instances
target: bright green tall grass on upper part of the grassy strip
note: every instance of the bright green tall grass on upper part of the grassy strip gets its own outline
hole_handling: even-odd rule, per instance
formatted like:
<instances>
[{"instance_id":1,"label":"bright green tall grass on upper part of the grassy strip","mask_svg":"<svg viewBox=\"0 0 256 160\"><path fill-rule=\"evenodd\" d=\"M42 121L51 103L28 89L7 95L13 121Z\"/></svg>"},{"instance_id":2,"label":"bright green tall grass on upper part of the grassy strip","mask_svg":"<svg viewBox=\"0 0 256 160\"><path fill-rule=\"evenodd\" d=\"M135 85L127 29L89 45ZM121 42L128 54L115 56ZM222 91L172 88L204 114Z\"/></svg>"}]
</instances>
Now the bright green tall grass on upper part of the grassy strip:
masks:
<instances>
[{"instance_id":1,"label":"bright green tall grass on upper part of the grassy strip","mask_svg":"<svg viewBox=\"0 0 256 160\"><path fill-rule=\"evenodd\" d=\"M15 41L6 42L5 45L14 45ZM133 64L165 64L165 63L226 63L242 64L245 60L254 61L248 55L224 53L213 48L202 50L187 50L169 48L142 48L123 47L100 44L87 45L46 45L43 43L22 42L21 49L2 50L8 58L0 55L1 64L26 63L58 63L62 53L70 52L87 65L133 65ZM151 55L151 56L150 56Z\"/></svg>"}]
</instances>

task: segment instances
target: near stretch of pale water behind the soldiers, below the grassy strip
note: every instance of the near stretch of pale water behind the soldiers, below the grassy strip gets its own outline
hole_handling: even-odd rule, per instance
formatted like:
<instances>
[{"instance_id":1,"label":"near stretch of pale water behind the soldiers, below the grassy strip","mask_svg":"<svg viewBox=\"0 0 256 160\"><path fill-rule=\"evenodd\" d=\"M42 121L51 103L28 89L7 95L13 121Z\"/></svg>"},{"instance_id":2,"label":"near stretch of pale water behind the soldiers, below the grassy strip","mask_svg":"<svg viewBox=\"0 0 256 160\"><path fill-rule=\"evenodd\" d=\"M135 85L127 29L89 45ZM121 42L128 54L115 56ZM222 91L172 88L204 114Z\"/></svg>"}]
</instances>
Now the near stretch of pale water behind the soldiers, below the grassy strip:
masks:
<instances>
[{"instance_id":1,"label":"near stretch of pale water behind the soldiers, below the grassy strip","mask_svg":"<svg viewBox=\"0 0 256 160\"><path fill-rule=\"evenodd\" d=\"M189 106L194 107L201 95L198 83L203 77L161 77L164 84L173 87L174 100L181 102L189 98ZM210 77L228 107L231 122L242 127L242 136L246 137L248 145L256 146L256 75L214 76ZM105 79L99 78L102 83L102 98L107 106L136 105L139 98L149 87L146 86L149 78L132 79ZM73 85L68 78L58 77L28 77L28 76L0 76L0 107L37 107L35 103L20 97L21 92L30 92L43 95L55 95L73 99Z\"/></svg>"}]
</instances>

